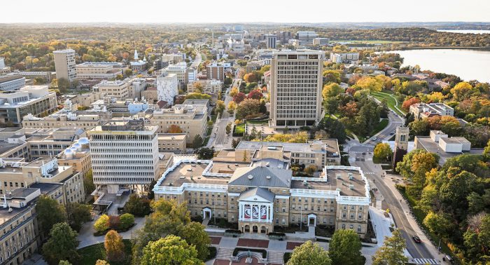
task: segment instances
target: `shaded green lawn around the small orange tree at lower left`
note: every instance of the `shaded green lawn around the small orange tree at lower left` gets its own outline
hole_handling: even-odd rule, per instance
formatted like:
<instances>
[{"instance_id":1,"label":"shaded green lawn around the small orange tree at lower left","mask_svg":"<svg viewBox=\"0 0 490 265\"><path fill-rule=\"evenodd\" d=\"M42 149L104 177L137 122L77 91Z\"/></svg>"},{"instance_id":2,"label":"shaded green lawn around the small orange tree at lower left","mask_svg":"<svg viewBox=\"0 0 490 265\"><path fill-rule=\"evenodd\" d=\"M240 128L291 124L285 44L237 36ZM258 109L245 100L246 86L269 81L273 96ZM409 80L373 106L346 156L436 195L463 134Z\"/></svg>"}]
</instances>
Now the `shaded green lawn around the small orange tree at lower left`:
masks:
<instances>
[{"instance_id":1,"label":"shaded green lawn around the small orange tree at lower left","mask_svg":"<svg viewBox=\"0 0 490 265\"><path fill-rule=\"evenodd\" d=\"M123 239L125 247L125 259L123 261L111 261L111 265L130 265L131 264L131 240ZM96 245L89 245L78 250L80 254L80 262L82 265L93 265L97 262L97 259L106 259L106 249L104 243Z\"/></svg>"}]
</instances>

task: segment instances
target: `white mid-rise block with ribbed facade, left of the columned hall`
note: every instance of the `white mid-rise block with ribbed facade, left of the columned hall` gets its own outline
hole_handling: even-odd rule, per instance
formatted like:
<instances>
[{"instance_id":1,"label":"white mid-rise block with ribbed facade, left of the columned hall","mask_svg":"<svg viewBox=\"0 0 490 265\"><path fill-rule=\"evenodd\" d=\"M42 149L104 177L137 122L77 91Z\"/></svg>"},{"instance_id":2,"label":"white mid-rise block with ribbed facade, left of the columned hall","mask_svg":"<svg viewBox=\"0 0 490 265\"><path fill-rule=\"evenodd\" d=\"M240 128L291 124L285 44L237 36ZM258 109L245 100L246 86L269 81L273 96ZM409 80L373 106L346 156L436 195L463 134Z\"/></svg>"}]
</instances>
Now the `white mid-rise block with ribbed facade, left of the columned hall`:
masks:
<instances>
[{"instance_id":1,"label":"white mid-rise block with ribbed facade, left of the columned hall","mask_svg":"<svg viewBox=\"0 0 490 265\"><path fill-rule=\"evenodd\" d=\"M109 193L151 184L158 174L157 126L112 119L90 130L90 156L94 184Z\"/></svg>"}]
</instances>

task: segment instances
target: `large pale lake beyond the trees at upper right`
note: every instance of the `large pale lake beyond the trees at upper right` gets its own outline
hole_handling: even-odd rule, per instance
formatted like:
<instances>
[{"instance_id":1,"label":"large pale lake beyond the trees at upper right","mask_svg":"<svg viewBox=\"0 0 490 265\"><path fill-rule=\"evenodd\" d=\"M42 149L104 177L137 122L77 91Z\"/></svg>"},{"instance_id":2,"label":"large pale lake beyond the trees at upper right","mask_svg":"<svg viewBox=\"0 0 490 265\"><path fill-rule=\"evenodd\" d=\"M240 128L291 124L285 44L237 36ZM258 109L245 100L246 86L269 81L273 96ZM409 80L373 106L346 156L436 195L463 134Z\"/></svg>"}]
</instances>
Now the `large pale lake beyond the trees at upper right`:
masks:
<instances>
[{"instance_id":1,"label":"large pale lake beyond the trees at upper right","mask_svg":"<svg viewBox=\"0 0 490 265\"><path fill-rule=\"evenodd\" d=\"M393 50L403 57L402 66L419 64L422 70L454 74L465 81L490 82L488 50Z\"/></svg>"}]
</instances>

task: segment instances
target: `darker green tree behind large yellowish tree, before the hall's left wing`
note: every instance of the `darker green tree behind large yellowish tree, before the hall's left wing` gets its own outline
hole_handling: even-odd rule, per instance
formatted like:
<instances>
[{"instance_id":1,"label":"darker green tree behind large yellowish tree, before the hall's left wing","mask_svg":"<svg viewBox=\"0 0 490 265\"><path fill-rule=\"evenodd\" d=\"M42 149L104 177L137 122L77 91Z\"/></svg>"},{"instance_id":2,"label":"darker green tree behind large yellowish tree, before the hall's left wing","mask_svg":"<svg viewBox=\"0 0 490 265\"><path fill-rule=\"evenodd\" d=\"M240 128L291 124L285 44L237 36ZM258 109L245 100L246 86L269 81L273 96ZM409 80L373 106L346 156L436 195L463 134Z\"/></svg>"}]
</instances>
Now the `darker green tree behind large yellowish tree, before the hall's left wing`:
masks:
<instances>
[{"instance_id":1,"label":"darker green tree behind large yellowish tree, before the hall's left wing","mask_svg":"<svg viewBox=\"0 0 490 265\"><path fill-rule=\"evenodd\" d=\"M197 258L206 260L209 255L209 245L211 245L211 239L204 226L197 222L190 222L186 225L179 226L179 236L186 240L189 245L193 245L197 250Z\"/></svg>"}]
</instances>

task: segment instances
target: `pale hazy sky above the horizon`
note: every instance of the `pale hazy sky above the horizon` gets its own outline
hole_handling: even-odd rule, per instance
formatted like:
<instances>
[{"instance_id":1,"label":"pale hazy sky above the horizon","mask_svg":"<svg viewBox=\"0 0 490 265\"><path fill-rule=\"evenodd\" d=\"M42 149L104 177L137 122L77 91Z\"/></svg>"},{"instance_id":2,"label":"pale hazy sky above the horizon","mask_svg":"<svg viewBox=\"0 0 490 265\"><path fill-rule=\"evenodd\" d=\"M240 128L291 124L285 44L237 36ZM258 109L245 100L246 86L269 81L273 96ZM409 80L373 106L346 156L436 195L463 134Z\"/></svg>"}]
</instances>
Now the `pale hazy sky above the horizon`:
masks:
<instances>
[{"instance_id":1,"label":"pale hazy sky above the horizon","mask_svg":"<svg viewBox=\"0 0 490 265\"><path fill-rule=\"evenodd\" d=\"M0 22L490 22L489 0L0 0Z\"/></svg>"}]
</instances>

